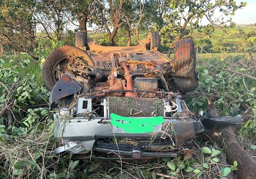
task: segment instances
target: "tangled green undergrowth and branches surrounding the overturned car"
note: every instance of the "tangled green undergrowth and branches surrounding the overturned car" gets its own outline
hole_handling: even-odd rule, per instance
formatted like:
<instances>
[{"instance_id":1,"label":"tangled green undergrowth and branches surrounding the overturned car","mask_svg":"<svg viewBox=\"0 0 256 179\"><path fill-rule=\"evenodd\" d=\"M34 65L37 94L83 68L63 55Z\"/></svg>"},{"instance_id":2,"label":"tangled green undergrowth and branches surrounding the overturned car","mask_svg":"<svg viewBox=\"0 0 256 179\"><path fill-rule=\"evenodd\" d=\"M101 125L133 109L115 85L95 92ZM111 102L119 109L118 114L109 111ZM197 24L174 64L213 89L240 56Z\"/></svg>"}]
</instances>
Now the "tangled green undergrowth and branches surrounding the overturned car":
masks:
<instances>
[{"instance_id":1,"label":"tangled green undergrowth and branches surrounding the overturned car","mask_svg":"<svg viewBox=\"0 0 256 179\"><path fill-rule=\"evenodd\" d=\"M237 163L228 165L222 148L204 137L186 142L181 149L185 154L175 159L107 162L56 155L49 91L36 80L40 71L28 70L33 60L22 55L23 60L0 63L0 178L236 178L232 171ZM238 138L255 156L256 85L243 75L255 76L253 65L255 60L240 57L209 60L199 67L200 88L188 94L187 104L192 111L207 114L211 100L221 115L231 116L251 108L253 114Z\"/></svg>"}]
</instances>

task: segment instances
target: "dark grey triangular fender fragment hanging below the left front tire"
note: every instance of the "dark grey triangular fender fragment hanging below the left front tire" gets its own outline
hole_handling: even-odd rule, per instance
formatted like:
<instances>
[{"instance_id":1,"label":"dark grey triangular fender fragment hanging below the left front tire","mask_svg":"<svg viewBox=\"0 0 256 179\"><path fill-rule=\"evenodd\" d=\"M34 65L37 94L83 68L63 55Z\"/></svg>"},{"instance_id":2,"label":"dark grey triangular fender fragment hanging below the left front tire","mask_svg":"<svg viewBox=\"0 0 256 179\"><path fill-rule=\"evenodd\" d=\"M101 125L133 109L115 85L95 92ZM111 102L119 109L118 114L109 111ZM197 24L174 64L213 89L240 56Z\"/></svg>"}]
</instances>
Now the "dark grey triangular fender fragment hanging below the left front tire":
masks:
<instances>
[{"instance_id":1,"label":"dark grey triangular fender fragment hanging below the left front tire","mask_svg":"<svg viewBox=\"0 0 256 179\"><path fill-rule=\"evenodd\" d=\"M66 96L78 93L82 87L67 73L63 74L52 88L49 98L50 107L52 104Z\"/></svg>"}]
</instances>

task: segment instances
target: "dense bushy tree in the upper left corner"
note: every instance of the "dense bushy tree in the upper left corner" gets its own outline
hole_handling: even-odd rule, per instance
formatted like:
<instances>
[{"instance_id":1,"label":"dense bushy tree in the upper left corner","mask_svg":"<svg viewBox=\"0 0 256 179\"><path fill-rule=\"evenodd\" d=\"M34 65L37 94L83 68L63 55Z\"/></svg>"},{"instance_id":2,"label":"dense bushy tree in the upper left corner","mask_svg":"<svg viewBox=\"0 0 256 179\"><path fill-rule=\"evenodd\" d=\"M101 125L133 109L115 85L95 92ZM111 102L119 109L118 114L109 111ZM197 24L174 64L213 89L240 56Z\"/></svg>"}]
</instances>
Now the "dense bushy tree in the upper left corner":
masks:
<instances>
[{"instance_id":1,"label":"dense bushy tree in the upper left corner","mask_svg":"<svg viewBox=\"0 0 256 179\"><path fill-rule=\"evenodd\" d=\"M0 43L5 44L6 48L29 52L37 46L34 7L33 1L0 2Z\"/></svg>"}]
</instances>

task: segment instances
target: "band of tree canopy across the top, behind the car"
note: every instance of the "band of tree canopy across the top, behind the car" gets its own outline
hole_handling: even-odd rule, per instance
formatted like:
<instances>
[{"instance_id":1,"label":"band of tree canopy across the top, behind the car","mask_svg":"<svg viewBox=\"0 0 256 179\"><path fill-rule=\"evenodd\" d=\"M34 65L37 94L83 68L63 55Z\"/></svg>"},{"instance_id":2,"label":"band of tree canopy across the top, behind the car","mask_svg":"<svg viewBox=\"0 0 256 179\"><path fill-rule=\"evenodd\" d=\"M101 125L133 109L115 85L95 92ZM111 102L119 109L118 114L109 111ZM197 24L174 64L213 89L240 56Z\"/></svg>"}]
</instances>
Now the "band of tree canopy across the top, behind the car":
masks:
<instances>
[{"instance_id":1,"label":"band of tree canopy across the top, behind the car","mask_svg":"<svg viewBox=\"0 0 256 179\"><path fill-rule=\"evenodd\" d=\"M237 5L233 0L218 0L215 4L208 0L203 2L199 0L145 2L5 0L0 4L3 9L0 13L1 48L31 52L37 47L36 31L43 32L52 40L54 38L65 40L65 31L67 33L70 30L71 24L86 33L89 26L96 30L104 30L109 35L108 41L111 46L114 45L114 39L121 29L125 30L126 34L134 35L138 42L139 31L144 33L153 27L153 30L160 30L163 44L170 47L185 36L198 37L199 34L203 34L208 38L214 26L199 26L200 19L207 18L214 25L220 21L220 25L223 25L229 20L212 19L215 11L228 16L245 5L246 3ZM79 25L75 24L76 20ZM127 39L129 45L131 35L127 35ZM248 40L253 41L253 38Z\"/></svg>"}]
</instances>

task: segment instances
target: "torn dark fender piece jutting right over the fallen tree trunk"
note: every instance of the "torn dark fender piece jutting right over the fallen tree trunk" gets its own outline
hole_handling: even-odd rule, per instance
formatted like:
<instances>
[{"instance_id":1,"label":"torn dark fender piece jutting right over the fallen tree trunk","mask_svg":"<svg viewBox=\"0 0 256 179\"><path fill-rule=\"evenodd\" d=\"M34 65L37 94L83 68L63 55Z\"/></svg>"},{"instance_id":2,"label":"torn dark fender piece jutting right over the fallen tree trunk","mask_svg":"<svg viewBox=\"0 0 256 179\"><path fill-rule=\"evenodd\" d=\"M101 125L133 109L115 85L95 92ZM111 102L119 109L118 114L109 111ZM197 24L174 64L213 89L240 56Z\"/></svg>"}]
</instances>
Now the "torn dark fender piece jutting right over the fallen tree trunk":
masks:
<instances>
[{"instance_id":1,"label":"torn dark fender piece jutting right over the fallen tree trunk","mask_svg":"<svg viewBox=\"0 0 256 179\"><path fill-rule=\"evenodd\" d=\"M243 123L241 115L235 117L224 116L219 118L203 118L201 119L205 129L222 129L231 125L237 125Z\"/></svg>"}]
</instances>

